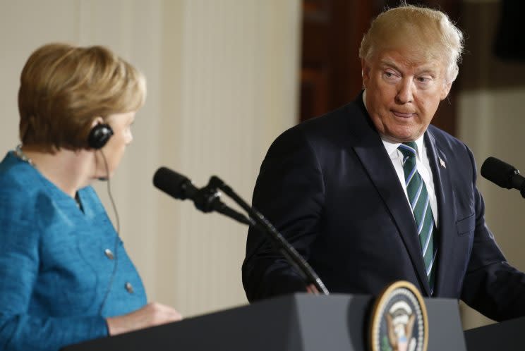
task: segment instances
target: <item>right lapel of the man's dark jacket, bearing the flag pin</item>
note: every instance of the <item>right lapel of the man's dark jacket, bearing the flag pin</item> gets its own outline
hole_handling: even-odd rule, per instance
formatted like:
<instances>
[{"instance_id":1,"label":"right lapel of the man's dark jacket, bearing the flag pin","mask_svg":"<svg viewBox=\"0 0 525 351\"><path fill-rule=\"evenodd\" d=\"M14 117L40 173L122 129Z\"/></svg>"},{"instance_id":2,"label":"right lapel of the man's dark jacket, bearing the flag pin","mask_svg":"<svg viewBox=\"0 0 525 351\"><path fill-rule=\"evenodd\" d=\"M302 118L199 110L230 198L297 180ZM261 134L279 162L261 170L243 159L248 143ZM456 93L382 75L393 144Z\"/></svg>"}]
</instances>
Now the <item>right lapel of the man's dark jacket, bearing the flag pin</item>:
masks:
<instances>
[{"instance_id":1,"label":"right lapel of the man's dark jacket, bearing the flag pin","mask_svg":"<svg viewBox=\"0 0 525 351\"><path fill-rule=\"evenodd\" d=\"M452 192L452 183L450 181L449 170L447 169L447 155L442 152L435 141L435 137L427 130L425 135L425 144L427 147L428 161L432 169L436 199L438 200L438 240L439 252L436 260L438 261L438 271L436 271L436 285L434 295L439 295L445 290L447 281L447 272L452 273L454 262L449 253L454 247L454 240L457 238L456 221L454 216L454 195Z\"/></svg>"}]
</instances>

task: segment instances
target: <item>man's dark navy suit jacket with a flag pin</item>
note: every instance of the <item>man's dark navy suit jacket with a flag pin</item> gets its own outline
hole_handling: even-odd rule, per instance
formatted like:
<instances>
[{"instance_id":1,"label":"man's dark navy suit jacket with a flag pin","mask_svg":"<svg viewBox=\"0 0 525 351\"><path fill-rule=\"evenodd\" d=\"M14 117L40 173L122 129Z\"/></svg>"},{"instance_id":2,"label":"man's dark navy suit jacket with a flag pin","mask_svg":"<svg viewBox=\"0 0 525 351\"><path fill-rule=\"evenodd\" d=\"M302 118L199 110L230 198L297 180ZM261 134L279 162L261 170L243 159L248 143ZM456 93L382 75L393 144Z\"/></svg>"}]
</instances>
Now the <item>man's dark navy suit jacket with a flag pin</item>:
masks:
<instances>
[{"instance_id":1,"label":"man's dark navy suit jacket with a flag pin","mask_svg":"<svg viewBox=\"0 0 525 351\"><path fill-rule=\"evenodd\" d=\"M424 142L439 213L433 296L461 298L496 320L525 315L525 275L507 264L485 225L471 151L433 125ZM430 293L414 217L361 94L277 137L260 168L253 207L332 293L378 295L398 280ZM252 229L243 285L250 301L305 290Z\"/></svg>"}]
</instances>

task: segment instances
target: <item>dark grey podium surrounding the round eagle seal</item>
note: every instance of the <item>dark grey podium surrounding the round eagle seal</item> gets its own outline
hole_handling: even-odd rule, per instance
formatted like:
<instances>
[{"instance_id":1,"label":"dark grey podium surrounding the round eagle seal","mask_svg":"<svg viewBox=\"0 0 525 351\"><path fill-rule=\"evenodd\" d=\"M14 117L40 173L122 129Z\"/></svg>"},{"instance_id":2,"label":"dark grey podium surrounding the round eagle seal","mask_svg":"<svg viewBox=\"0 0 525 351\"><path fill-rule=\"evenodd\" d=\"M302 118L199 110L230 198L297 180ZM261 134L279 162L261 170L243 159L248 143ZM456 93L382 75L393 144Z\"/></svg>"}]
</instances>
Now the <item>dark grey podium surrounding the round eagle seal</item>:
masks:
<instances>
[{"instance_id":1,"label":"dark grey podium surrounding the round eagle seal","mask_svg":"<svg viewBox=\"0 0 525 351\"><path fill-rule=\"evenodd\" d=\"M425 303L428 351L466 350L457 301ZM369 295L286 295L63 350L362 351L372 304Z\"/></svg>"}]
</instances>

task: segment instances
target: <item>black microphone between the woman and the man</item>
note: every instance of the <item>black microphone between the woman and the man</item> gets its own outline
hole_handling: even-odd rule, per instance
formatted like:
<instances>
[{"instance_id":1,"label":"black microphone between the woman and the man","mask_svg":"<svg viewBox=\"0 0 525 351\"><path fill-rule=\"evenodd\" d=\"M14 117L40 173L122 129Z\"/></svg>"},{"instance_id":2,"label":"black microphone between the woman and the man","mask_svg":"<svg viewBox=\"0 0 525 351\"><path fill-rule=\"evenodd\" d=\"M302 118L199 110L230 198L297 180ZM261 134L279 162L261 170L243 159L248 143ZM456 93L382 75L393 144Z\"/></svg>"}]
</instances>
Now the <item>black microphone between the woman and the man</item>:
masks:
<instances>
[{"instance_id":1,"label":"black microphone between the woman and the man","mask_svg":"<svg viewBox=\"0 0 525 351\"><path fill-rule=\"evenodd\" d=\"M200 211L217 211L248 226L253 224L251 218L246 218L220 200L220 192L211 180L208 185L198 189L186 176L167 167L160 167L153 176L153 185L175 199L191 199Z\"/></svg>"}]
</instances>

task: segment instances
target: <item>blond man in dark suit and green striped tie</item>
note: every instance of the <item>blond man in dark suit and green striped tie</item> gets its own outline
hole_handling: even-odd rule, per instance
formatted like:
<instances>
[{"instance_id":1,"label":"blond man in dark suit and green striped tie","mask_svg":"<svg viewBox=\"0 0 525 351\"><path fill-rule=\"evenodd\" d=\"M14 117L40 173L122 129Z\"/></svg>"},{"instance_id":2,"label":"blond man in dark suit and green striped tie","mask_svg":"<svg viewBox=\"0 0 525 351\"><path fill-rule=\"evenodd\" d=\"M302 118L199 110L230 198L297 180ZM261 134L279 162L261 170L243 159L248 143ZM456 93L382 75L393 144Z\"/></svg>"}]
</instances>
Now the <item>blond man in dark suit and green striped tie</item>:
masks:
<instances>
[{"instance_id":1,"label":"blond man in dark suit and green striped tie","mask_svg":"<svg viewBox=\"0 0 525 351\"><path fill-rule=\"evenodd\" d=\"M485 226L471 151L430 125L462 42L440 11L382 13L361 43L364 91L286 130L267 152L253 206L332 293L377 295L405 280L496 320L525 314L525 275ZM255 230L243 285L250 301L312 290Z\"/></svg>"}]
</instances>

